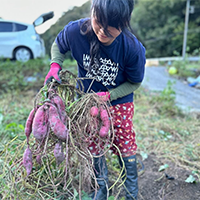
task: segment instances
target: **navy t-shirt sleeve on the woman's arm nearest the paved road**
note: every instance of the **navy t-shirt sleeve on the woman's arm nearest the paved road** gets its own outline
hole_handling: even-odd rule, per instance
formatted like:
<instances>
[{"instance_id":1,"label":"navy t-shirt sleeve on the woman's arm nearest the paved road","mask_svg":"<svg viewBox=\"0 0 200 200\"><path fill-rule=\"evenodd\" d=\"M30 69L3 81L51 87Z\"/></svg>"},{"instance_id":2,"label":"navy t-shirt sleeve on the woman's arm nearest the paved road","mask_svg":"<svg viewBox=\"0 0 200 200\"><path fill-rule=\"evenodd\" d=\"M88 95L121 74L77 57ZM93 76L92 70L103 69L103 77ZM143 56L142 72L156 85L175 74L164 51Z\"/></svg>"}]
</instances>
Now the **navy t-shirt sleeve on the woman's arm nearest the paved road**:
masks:
<instances>
[{"instance_id":1,"label":"navy t-shirt sleeve on the woman's arm nearest the paved road","mask_svg":"<svg viewBox=\"0 0 200 200\"><path fill-rule=\"evenodd\" d=\"M129 45L125 75L127 79L133 83L141 83L144 78L145 71L145 48L135 39L134 45Z\"/></svg>"}]
</instances>

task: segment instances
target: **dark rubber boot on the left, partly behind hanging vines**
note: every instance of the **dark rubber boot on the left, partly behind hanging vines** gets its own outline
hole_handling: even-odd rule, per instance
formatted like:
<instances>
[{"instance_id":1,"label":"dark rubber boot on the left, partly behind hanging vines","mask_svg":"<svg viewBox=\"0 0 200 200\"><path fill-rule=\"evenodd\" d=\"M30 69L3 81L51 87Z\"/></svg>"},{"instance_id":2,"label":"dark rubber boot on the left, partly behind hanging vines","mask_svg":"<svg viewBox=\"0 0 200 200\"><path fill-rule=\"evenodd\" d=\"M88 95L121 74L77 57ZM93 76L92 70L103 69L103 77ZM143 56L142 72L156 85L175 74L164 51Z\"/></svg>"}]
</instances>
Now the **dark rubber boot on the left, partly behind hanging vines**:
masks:
<instances>
[{"instance_id":1,"label":"dark rubber boot on the left, partly behind hanging vines","mask_svg":"<svg viewBox=\"0 0 200 200\"><path fill-rule=\"evenodd\" d=\"M106 165L105 156L94 158L94 172L97 178L99 189L96 197L95 192L92 193L91 198L93 200L107 200L108 196L108 168Z\"/></svg>"}]
</instances>

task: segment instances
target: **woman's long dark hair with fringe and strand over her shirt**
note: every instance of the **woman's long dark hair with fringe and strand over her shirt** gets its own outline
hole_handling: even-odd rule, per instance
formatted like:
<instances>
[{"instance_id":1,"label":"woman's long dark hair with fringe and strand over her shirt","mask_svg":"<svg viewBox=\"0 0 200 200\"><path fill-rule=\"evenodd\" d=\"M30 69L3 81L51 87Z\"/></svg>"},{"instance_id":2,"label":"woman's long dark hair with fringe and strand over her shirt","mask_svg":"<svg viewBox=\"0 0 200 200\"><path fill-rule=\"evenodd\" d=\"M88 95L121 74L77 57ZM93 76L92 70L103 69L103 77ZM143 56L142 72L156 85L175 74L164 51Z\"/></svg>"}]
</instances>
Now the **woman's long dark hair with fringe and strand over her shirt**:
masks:
<instances>
[{"instance_id":1,"label":"woman's long dark hair with fringe and strand over her shirt","mask_svg":"<svg viewBox=\"0 0 200 200\"><path fill-rule=\"evenodd\" d=\"M106 35L108 26L115 27L118 30L124 31L126 34L132 32L130 26L131 13L134 8L134 0L92 0L91 13L97 19L97 22L104 29ZM90 42L90 68L94 63L94 59L99 60L99 40L95 35L91 20L85 21L81 26L81 33L88 36Z\"/></svg>"}]
</instances>

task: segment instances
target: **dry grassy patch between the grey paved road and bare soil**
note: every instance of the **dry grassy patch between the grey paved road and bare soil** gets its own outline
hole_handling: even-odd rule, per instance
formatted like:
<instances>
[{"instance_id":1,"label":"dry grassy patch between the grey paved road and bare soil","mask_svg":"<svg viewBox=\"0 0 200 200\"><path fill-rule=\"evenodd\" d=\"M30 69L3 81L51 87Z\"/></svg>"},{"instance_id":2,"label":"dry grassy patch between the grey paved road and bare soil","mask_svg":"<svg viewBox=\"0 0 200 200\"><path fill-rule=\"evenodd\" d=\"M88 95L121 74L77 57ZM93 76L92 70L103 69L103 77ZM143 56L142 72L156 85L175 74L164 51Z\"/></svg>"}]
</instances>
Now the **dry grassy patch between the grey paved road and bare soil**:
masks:
<instances>
[{"instance_id":1,"label":"dry grassy patch between the grey paved road and bare soil","mask_svg":"<svg viewBox=\"0 0 200 200\"><path fill-rule=\"evenodd\" d=\"M166 108L166 101L158 103L152 100L154 98L143 88L136 94L134 126L138 151L155 153L157 156L168 158L177 166L195 171L200 181L198 117L183 114L177 108L173 109L173 113L169 107L169 112L160 112L163 107Z\"/></svg>"}]
</instances>

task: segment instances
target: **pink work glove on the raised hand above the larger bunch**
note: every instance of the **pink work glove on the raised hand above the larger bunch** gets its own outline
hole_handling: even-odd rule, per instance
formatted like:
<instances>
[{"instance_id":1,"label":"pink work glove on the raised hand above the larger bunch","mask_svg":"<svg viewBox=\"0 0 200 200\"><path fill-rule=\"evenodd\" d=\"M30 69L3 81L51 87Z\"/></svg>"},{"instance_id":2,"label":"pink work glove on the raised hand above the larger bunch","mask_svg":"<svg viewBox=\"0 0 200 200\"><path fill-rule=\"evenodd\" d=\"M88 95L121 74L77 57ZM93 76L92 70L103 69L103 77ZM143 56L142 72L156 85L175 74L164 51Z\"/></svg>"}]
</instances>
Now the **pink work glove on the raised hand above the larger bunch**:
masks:
<instances>
[{"instance_id":1,"label":"pink work glove on the raised hand above the larger bunch","mask_svg":"<svg viewBox=\"0 0 200 200\"><path fill-rule=\"evenodd\" d=\"M59 72L62 70L61 66L58 63L52 63L50 70L45 78L44 85L48 82L52 81L52 78L54 78L58 83L61 83Z\"/></svg>"}]
</instances>

